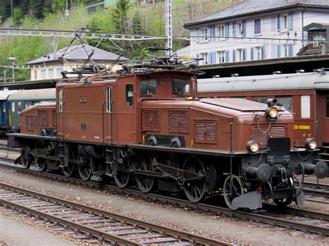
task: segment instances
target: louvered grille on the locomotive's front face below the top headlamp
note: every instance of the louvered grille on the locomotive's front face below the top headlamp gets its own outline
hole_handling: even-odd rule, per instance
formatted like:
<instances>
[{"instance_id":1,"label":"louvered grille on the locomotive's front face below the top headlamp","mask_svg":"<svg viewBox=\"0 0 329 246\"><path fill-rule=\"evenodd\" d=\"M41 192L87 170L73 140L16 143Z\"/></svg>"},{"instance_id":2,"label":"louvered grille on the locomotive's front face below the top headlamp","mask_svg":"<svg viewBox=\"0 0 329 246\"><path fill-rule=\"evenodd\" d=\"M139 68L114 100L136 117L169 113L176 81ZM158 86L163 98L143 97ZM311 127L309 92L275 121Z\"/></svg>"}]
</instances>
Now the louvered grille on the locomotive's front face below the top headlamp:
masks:
<instances>
[{"instance_id":1,"label":"louvered grille on the locomotive's front face below the top headlamp","mask_svg":"<svg viewBox=\"0 0 329 246\"><path fill-rule=\"evenodd\" d=\"M270 137L287 137L284 125L254 125L251 132L251 139L260 143L261 148L267 148L267 139Z\"/></svg>"}]
</instances>

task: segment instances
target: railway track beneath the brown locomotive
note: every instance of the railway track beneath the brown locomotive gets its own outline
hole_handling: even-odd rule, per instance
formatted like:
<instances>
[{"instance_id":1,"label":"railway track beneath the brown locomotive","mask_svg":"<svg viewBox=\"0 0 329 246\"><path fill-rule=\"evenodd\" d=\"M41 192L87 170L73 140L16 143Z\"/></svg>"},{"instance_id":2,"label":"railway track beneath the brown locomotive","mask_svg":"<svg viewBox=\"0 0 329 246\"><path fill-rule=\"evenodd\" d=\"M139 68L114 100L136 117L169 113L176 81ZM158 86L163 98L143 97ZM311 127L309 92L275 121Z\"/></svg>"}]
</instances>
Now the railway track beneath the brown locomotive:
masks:
<instances>
[{"instance_id":1,"label":"railway track beneath the brown locomotive","mask_svg":"<svg viewBox=\"0 0 329 246\"><path fill-rule=\"evenodd\" d=\"M115 193L123 193L125 195L133 195L135 197L142 197L143 199L153 200L157 202L165 202L167 204L173 204L178 207L187 207L189 209L195 209L197 211L203 211L204 213L215 213L217 215L233 216L236 218L242 218L244 220L252 220L254 222L262 222L273 227L285 227L290 229L296 229L300 231L307 231L310 233L320 234L323 236L329 236L329 214L321 213L317 211L307 211L303 209L295 209L287 207L278 212L278 207L273 204L264 204L264 209L257 211L232 211L223 207L214 206L211 204L194 204L187 200L167 197L164 195L153 193L142 193L132 188L121 189L117 186L110 184L103 184L101 182L87 181L84 182L81 179L67 178L62 175L56 175L53 173L38 173L30 169L19 168L18 166L8 166L1 164L6 168L14 168L24 173L36 174L41 177L47 177L55 180L62 180L65 182L71 182L74 184L90 186L92 188L107 189Z\"/></svg>"}]
</instances>

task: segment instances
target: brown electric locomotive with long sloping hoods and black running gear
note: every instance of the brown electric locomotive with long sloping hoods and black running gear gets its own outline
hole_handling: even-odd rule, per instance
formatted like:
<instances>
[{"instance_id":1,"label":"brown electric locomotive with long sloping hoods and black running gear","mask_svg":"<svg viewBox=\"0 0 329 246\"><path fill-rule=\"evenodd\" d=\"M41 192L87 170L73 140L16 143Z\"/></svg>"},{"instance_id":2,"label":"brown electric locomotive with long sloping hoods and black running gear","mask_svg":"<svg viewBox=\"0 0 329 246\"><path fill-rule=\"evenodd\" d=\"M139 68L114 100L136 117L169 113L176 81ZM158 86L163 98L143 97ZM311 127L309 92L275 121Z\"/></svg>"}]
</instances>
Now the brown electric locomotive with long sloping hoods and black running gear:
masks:
<instances>
[{"instance_id":1,"label":"brown electric locomotive with long sloping hoods and black running gear","mask_svg":"<svg viewBox=\"0 0 329 246\"><path fill-rule=\"evenodd\" d=\"M145 193L183 190L192 202L223 195L230 209L302 203L303 175L326 176L317 141L296 148L294 117L276 100L198 99L194 73L163 60L58 82L56 105L24 110L21 133L10 134L17 162L68 177L77 168L84 180L108 175L121 188L134 180Z\"/></svg>"}]
</instances>

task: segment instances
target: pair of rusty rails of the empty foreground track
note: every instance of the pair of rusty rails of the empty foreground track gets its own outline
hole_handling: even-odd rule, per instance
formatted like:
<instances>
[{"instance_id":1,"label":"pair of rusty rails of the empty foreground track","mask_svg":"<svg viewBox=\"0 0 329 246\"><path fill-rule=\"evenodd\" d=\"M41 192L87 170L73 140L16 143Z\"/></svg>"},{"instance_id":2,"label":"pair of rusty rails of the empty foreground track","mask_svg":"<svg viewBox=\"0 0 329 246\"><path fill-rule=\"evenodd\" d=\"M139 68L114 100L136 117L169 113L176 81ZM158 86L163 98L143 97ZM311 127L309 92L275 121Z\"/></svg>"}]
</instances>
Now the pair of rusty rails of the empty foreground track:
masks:
<instances>
[{"instance_id":1,"label":"pair of rusty rails of the empty foreground track","mask_svg":"<svg viewBox=\"0 0 329 246\"><path fill-rule=\"evenodd\" d=\"M133 225L134 227L141 227L150 231L156 231L160 234L165 234L168 236L172 236L174 238L178 238L178 240L187 240L190 243L197 243L201 245L233 245L232 243L226 243L220 240L215 240L212 238L206 238L204 236L199 236L196 234L191 234L189 232L180 231L178 229L171 229L162 225L156 225L151 222L144 222L142 220L137 220L134 218L130 218L128 216L120 215L118 213L112 213L109 211L103 211L101 209L96 209L94 207L90 207L83 204L78 204L76 202L70 202L68 200L63 200L58 197L53 197L51 195L45 195L42 193L37 193L35 191L29 191L25 188L20 188L17 186L12 186L10 184L4 184L3 182L0 182L0 186L10 189L15 192L23 193L28 196L37 197L41 200L46 200L47 202L53 202L56 204L60 204L62 206L66 207L72 207L74 209L78 209L80 211L85 211L87 213L93 213L97 216L103 216L104 218L108 218L110 220L118 220L120 222L124 222L129 225ZM18 209L22 209L24 211L28 211L29 213L32 213L33 215L39 216L40 218L50 220L52 222L58 222L61 225L69 225L72 229L78 229L79 231L82 231L85 234L91 234L92 236L95 236L96 238L102 238L104 240L107 240L112 243L124 243L128 245L143 245L142 243L136 243L133 240L128 240L125 238L121 238L120 236L115 236L113 234L106 233L104 231L99 231L97 229L81 225L77 222L72 222L71 220L65 220L62 218L58 218L58 216L53 216L49 213L44 213L42 211L37 211L36 209L31 209L25 206L22 206L21 204L17 204L15 202L10 202L7 200L3 200L0 198L0 202L3 204L7 204L10 207L16 207Z\"/></svg>"}]
</instances>

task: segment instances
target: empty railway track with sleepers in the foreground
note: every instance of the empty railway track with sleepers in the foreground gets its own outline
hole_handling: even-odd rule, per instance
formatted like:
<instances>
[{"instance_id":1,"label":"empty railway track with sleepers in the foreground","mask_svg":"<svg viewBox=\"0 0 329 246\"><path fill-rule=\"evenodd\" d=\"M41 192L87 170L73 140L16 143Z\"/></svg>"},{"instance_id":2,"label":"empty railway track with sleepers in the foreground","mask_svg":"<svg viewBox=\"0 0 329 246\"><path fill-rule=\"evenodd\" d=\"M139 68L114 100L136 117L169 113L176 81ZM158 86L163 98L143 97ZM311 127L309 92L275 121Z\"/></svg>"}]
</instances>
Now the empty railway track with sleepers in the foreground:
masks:
<instances>
[{"instance_id":1,"label":"empty railway track with sleepers in the foreground","mask_svg":"<svg viewBox=\"0 0 329 246\"><path fill-rule=\"evenodd\" d=\"M56 227L60 225L93 236L94 243L232 245L4 183L0 183L0 202L10 209L52 222Z\"/></svg>"}]
</instances>

